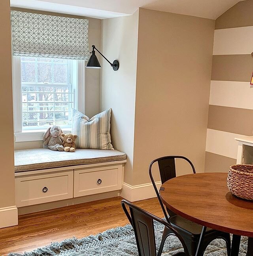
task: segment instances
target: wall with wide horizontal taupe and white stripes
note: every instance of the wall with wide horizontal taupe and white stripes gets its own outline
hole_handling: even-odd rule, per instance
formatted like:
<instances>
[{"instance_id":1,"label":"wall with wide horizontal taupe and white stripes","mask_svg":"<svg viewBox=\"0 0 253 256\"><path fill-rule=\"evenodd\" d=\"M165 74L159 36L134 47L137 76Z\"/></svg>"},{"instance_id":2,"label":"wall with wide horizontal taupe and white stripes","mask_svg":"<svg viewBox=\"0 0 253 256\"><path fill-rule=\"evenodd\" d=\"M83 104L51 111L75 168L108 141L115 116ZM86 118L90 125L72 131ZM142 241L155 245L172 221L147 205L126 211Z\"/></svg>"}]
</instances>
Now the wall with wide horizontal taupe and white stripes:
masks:
<instances>
[{"instance_id":1,"label":"wall with wide horizontal taupe and white stripes","mask_svg":"<svg viewBox=\"0 0 253 256\"><path fill-rule=\"evenodd\" d=\"M240 135L253 132L253 0L239 2L215 21L205 172L236 163Z\"/></svg>"}]
</instances>

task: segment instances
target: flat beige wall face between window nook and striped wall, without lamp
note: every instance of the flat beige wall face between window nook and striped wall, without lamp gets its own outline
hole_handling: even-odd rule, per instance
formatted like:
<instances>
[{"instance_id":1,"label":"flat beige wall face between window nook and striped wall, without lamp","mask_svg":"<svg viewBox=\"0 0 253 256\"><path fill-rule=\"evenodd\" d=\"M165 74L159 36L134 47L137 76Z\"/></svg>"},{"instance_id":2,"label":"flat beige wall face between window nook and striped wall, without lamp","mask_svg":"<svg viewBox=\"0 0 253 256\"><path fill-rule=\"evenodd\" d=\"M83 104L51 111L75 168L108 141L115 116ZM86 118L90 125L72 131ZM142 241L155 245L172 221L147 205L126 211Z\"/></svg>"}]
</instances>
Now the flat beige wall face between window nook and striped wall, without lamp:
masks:
<instances>
[{"instance_id":1,"label":"flat beige wall face between window nook and striped wall, without lamp","mask_svg":"<svg viewBox=\"0 0 253 256\"><path fill-rule=\"evenodd\" d=\"M213 33L210 19L140 9L131 185L149 183L149 163L164 155L204 172Z\"/></svg>"}]
</instances>

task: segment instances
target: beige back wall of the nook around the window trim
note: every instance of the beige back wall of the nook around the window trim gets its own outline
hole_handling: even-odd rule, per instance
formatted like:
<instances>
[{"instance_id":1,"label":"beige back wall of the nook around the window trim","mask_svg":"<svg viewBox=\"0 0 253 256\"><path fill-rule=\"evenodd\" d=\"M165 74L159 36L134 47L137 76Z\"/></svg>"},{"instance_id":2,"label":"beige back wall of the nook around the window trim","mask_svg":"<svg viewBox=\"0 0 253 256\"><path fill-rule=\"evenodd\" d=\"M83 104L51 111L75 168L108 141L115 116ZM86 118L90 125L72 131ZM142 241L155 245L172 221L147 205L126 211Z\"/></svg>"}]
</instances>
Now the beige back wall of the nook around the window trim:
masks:
<instances>
[{"instance_id":1,"label":"beige back wall of the nook around the window trim","mask_svg":"<svg viewBox=\"0 0 253 256\"><path fill-rule=\"evenodd\" d=\"M13 8L15 10L22 10ZM44 12L45 13L45 12ZM51 13L55 14L55 13ZM101 20L87 18L89 20L89 48L94 44L101 47ZM100 56L97 55L100 60ZM93 117L100 111L100 72L95 69L85 69L85 114ZM42 141L15 142L15 149L32 149L43 147Z\"/></svg>"}]
</instances>

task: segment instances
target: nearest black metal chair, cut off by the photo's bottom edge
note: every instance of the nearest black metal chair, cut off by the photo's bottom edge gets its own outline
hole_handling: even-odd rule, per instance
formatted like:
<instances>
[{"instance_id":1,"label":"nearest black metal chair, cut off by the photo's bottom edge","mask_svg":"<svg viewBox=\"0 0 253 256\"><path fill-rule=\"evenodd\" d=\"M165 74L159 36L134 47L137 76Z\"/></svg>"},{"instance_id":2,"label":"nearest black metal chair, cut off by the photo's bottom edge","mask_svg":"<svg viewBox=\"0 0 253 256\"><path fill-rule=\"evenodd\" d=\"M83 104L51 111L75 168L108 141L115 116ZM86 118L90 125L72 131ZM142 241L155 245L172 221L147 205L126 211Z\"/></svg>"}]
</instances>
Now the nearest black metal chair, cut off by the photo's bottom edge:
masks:
<instances>
[{"instance_id":1,"label":"nearest black metal chair, cut off by the photo's bottom edge","mask_svg":"<svg viewBox=\"0 0 253 256\"><path fill-rule=\"evenodd\" d=\"M153 214L146 212L145 210L139 208L138 206L135 206L129 201L122 200L121 205L130 224L134 229L134 235L136 239L139 256L157 256L155 244L155 231L153 223L154 220L160 222L165 227L171 230L171 232L167 234L167 237L170 235L174 235L182 243L185 252L178 252L177 254L174 254L174 256L189 256L187 246L185 245L183 238L179 235L176 229L172 227L172 225L158 218L157 216L154 216ZM126 205L128 205L129 207L130 214L126 209Z\"/></svg>"}]
</instances>

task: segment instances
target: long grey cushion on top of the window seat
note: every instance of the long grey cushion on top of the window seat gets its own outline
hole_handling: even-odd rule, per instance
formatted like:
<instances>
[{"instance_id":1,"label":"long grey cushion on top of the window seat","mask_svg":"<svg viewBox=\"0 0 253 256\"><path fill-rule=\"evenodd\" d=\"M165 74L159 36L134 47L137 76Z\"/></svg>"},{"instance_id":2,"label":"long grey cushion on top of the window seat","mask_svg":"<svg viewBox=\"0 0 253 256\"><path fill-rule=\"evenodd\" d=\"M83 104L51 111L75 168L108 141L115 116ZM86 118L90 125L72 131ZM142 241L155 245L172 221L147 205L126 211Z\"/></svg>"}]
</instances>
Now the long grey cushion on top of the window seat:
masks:
<instances>
[{"instance_id":1,"label":"long grey cushion on top of the window seat","mask_svg":"<svg viewBox=\"0 0 253 256\"><path fill-rule=\"evenodd\" d=\"M49 149L15 150L15 172L41 170L81 164L125 160L126 154L117 150L76 149L60 152Z\"/></svg>"}]
</instances>

